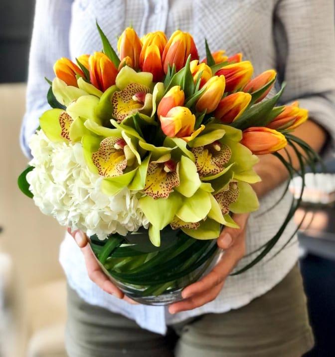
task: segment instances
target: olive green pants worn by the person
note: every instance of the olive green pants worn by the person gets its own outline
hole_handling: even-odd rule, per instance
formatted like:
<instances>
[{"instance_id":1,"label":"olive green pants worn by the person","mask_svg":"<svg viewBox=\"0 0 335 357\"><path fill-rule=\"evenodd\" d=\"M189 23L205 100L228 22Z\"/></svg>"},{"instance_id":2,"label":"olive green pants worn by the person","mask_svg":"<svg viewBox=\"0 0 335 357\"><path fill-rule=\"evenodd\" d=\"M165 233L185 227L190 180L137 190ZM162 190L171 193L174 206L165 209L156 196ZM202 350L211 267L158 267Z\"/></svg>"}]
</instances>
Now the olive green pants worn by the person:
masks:
<instances>
[{"instance_id":1,"label":"olive green pants worn by the person","mask_svg":"<svg viewBox=\"0 0 335 357\"><path fill-rule=\"evenodd\" d=\"M314 343L298 266L250 304L171 326L167 336L89 305L69 288L65 340L69 357L300 357Z\"/></svg>"}]
</instances>

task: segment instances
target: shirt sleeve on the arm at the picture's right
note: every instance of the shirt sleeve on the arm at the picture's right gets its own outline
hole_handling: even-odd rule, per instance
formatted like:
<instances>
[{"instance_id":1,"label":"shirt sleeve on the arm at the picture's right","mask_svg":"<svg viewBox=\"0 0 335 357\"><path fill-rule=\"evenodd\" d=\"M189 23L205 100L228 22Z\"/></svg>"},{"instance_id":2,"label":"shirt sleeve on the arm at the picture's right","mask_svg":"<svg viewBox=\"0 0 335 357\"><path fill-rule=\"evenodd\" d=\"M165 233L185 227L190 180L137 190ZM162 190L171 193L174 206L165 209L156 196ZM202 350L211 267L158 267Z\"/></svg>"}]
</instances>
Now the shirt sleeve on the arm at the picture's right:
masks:
<instances>
[{"instance_id":1,"label":"shirt sleeve on the arm at the picture's right","mask_svg":"<svg viewBox=\"0 0 335 357\"><path fill-rule=\"evenodd\" d=\"M299 100L335 143L334 0L279 0L275 16L283 103Z\"/></svg>"}]
</instances>

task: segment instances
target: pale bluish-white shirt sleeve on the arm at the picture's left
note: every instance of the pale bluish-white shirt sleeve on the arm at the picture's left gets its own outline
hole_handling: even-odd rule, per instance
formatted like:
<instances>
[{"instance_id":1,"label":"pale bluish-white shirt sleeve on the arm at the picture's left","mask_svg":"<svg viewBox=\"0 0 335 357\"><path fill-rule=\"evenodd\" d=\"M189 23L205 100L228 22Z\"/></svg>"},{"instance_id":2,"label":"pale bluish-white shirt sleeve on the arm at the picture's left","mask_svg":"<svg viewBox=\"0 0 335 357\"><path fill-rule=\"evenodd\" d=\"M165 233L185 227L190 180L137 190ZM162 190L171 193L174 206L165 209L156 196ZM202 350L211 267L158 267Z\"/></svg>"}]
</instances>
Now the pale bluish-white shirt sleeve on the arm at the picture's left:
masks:
<instances>
[{"instance_id":1,"label":"pale bluish-white shirt sleeve on the arm at the picture's left","mask_svg":"<svg viewBox=\"0 0 335 357\"><path fill-rule=\"evenodd\" d=\"M26 110L20 132L20 144L30 158L29 137L38 127L43 111L49 109L46 94L54 77L53 64L60 57L69 57L69 30L73 0L36 0L31 36Z\"/></svg>"}]
</instances>

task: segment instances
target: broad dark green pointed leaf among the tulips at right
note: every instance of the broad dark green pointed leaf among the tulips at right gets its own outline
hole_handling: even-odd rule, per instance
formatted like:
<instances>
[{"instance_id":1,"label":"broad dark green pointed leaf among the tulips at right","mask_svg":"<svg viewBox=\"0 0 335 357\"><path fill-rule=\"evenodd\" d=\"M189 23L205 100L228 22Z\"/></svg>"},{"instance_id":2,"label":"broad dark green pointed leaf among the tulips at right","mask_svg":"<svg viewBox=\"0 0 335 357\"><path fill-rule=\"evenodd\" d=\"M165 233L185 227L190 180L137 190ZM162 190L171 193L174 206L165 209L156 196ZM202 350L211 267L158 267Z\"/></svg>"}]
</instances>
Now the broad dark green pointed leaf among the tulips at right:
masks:
<instances>
[{"instance_id":1,"label":"broad dark green pointed leaf among the tulips at right","mask_svg":"<svg viewBox=\"0 0 335 357\"><path fill-rule=\"evenodd\" d=\"M266 126L275 116L276 112L273 112L273 107L278 102L280 96L285 88L283 83L281 90L271 99L262 101L246 109L244 113L230 125L245 130L250 126Z\"/></svg>"}]
</instances>

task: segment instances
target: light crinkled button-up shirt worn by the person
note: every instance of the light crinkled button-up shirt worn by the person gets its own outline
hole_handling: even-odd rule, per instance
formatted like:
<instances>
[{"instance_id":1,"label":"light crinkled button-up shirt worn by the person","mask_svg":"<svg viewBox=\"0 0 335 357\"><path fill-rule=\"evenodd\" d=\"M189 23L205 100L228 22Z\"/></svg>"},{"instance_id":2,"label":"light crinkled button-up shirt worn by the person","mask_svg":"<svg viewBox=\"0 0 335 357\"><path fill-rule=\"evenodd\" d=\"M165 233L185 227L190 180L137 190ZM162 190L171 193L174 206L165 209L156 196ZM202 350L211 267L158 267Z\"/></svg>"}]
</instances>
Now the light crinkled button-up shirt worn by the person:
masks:
<instances>
[{"instance_id":1,"label":"light crinkled button-up shirt worn by the person","mask_svg":"<svg viewBox=\"0 0 335 357\"><path fill-rule=\"evenodd\" d=\"M48 109L44 77L54 77L52 66L59 57L74 59L100 50L102 44L95 21L116 48L117 35L132 25L142 36L175 29L190 32L200 57L204 37L212 51L225 49L228 55L242 52L252 61L255 74L270 68L278 70L287 86L283 102L298 99L310 116L335 137L335 34L334 0L37 0L30 50L27 110L21 131L23 150L38 126L40 114ZM274 19L274 21L273 21ZM311 133L312 135L313 133ZM247 251L269 240L281 225L291 197L289 194L270 211L283 187L260 202L251 215ZM273 255L294 231L290 224ZM244 258L244 266L254 256ZM229 277L220 295L211 303L189 312L169 315L165 307L129 305L104 293L92 283L82 254L73 239L61 245L60 262L68 282L88 303L121 313L151 331L161 334L166 326L204 313L219 313L248 304L278 284L298 259L297 241L274 259L263 262L239 276Z\"/></svg>"}]
</instances>

